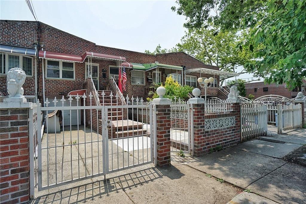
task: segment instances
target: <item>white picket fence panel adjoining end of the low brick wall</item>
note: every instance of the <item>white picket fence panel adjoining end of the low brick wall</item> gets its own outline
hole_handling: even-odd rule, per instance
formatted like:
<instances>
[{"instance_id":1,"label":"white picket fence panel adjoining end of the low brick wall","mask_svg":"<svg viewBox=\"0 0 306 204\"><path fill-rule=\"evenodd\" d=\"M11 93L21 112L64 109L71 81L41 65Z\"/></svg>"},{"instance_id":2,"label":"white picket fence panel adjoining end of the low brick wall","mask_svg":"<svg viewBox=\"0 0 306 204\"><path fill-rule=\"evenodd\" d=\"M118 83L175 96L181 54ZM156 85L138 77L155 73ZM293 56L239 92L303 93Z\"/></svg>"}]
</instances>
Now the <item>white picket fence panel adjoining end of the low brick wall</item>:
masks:
<instances>
[{"instance_id":1,"label":"white picket fence panel adjoining end of the low brick wall","mask_svg":"<svg viewBox=\"0 0 306 204\"><path fill-rule=\"evenodd\" d=\"M245 103L241 105L241 141L267 135L267 106Z\"/></svg>"}]
</instances>

